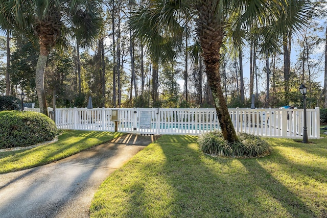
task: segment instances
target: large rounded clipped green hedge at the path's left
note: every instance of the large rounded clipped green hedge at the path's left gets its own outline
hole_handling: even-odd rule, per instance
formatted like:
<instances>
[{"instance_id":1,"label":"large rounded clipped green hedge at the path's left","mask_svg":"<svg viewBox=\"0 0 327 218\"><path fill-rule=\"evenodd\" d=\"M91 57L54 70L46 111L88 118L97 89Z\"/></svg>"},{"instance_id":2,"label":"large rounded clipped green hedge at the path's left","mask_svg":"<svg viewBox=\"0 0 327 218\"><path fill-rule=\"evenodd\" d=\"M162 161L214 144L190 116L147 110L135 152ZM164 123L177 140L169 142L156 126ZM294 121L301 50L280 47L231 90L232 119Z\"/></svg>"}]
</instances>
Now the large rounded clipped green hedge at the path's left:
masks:
<instances>
[{"instance_id":1,"label":"large rounded clipped green hedge at the path's left","mask_svg":"<svg viewBox=\"0 0 327 218\"><path fill-rule=\"evenodd\" d=\"M30 146L54 139L56 124L48 116L31 111L0 112L0 149Z\"/></svg>"}]
</instances>

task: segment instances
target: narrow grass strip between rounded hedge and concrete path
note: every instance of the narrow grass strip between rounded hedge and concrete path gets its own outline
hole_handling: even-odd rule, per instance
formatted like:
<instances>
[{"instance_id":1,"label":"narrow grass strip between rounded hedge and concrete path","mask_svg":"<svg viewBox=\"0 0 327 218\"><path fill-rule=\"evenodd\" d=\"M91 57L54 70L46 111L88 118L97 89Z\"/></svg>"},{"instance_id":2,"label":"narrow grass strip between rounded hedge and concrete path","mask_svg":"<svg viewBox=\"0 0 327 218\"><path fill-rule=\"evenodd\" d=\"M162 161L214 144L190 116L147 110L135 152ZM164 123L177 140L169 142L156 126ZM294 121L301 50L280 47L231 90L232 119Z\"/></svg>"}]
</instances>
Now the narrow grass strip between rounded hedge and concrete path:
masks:
<instances>
[{"instance_id":1,"label":"narrow grass strip between rounded hedge and concrete path","mask_svg":"<svg viewBox=\"0 0 327 218\"><path fill-rule=\"evenodd\" d=\"M114 132L63 131L58 141L27 150L0 152L0 174L44 165L123 135Z\"/></svg>"}]
</instances>

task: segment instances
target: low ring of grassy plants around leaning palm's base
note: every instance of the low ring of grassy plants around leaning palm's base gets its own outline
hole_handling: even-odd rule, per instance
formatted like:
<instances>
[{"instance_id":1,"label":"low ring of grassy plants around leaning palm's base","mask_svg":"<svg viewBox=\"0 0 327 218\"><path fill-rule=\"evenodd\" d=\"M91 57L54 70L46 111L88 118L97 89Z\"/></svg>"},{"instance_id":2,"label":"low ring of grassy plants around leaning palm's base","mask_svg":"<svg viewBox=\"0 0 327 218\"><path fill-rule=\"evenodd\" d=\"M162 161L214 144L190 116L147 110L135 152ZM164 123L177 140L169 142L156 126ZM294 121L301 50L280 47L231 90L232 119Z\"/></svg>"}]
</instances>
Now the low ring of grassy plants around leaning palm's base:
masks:
<instances>
[{"instance_id":1,"label":"low ring of grassy plants around leaning palm's base","mask_svg":"<svg viewBox=\"0 0 327 218\"><path fill-rule=\"evenodd\" d=\"M200 149L205 154L225 157L261 157L270 153L269 144L259 136L239 133L240 141L229 143L220 131L201 134Z\"/></svg>"}]
</instances>

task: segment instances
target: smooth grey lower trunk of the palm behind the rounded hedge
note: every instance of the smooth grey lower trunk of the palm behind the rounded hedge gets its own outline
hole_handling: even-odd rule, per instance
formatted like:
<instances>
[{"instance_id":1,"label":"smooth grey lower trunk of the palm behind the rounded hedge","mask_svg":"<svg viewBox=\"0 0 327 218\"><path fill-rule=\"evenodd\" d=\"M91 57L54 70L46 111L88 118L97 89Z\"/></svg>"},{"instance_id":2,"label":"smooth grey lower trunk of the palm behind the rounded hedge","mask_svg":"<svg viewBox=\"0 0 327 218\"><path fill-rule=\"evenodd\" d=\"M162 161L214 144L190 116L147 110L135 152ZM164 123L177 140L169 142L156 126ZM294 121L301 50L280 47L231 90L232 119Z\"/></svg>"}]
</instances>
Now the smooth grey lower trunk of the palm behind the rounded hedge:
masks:
<instances>
[{"instance_id":1,"label":"smooth grey lower trunk of the palm behind the rounded hedge","mask_svg":"<svg viewBox=\"0 0 327 218\"><path fill-rule=\"evenodd\" d=\"M42 54L46 55L42 55ZM40 51L39 58L36 64L36 73L35 73L35 86L37 92L37 98L39 101L40 112L49 116L48 109L46 106L46 99L45 99L45 90L44 90L44 71L46 65L46 59L48 59L49 52L42 52Z\"/></svg>"}]
</instances>

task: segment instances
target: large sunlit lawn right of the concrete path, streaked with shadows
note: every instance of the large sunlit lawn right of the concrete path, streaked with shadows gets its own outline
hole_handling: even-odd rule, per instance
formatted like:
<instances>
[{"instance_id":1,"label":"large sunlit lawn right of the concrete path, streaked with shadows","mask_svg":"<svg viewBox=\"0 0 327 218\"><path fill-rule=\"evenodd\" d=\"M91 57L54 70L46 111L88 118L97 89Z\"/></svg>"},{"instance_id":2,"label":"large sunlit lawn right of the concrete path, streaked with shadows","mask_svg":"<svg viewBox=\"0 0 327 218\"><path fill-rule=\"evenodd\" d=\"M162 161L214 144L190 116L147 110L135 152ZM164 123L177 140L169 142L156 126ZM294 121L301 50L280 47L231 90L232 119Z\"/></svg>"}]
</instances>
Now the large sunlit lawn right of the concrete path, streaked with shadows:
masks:
<instances>
[{"instance_id":1,"label":"large sunlit lawn right of the concrete path, streaked with shadows","mask_svg":"<svg viewBox=\"0 0 327 218\"><path fill-rule=\"evenodd\" d=\"M267 139L272 154L203 155L164 135L101 185L91 217L327 217L327 139Z\"/></svg>"}]
</instances>

